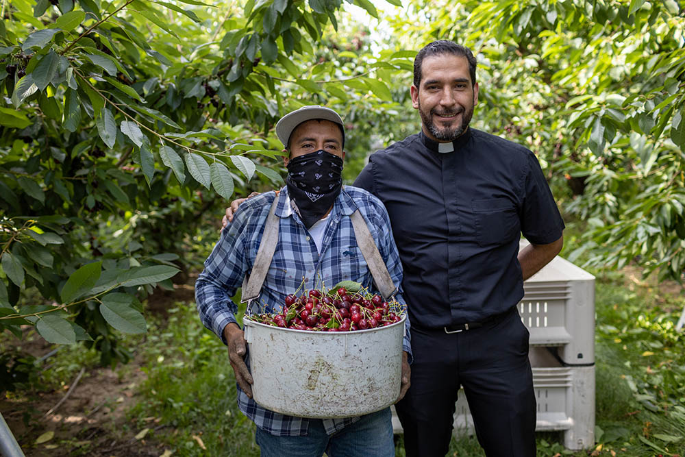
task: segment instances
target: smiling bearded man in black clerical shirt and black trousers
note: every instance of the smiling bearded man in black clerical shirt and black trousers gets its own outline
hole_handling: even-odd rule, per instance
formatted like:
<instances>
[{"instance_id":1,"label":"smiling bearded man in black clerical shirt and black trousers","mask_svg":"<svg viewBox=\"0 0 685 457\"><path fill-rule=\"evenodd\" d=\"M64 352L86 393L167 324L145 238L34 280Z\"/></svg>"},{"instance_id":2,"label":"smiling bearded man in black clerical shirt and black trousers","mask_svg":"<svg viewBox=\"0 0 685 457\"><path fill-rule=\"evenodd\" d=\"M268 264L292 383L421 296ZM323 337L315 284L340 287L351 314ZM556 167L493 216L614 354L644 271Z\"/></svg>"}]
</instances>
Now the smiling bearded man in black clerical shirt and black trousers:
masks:
<instances>
[{"instance_id":1,"label":"smiling bearded man in black clerical shirt and black trousers","mask_svg":"<svg viewBox=\"0 0 685 457\"><path fill-rule=\"evenodd\" d=\"M516 304L561 251L564 223L534 153L469 127L475 69L466 47L423 47L410 88L421 132L373 153L354 183L386 206L404 268L414 362L396 408L410 457L447 453L460 386L486 455L536 455ZM519 251L521 233L530 245Z\"/></svg>"}]
</instances>

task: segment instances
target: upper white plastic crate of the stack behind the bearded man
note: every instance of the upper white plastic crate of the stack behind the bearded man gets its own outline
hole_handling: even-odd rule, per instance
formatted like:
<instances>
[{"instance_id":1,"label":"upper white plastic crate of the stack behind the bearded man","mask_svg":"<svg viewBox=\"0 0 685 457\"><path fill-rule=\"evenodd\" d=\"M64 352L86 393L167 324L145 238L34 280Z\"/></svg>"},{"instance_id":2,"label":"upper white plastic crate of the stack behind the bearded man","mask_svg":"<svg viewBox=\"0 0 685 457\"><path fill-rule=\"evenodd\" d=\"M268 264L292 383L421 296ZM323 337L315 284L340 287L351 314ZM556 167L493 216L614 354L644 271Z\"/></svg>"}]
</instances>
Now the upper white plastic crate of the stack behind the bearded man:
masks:
<instances>
[{"instance_id":1,"label":"upper white plastic crate of the stack behind the bearded man","mask_svg":"<svg viewBox=\"0 0 685 457\"><path fill-rule=\"evenodd\" d=\"M521 249L528 243L521 241ZM523 283L521 320L530 345L558 346L564 362L595 362L595 277L561 257Z\"/></svg>"}]
</instances>

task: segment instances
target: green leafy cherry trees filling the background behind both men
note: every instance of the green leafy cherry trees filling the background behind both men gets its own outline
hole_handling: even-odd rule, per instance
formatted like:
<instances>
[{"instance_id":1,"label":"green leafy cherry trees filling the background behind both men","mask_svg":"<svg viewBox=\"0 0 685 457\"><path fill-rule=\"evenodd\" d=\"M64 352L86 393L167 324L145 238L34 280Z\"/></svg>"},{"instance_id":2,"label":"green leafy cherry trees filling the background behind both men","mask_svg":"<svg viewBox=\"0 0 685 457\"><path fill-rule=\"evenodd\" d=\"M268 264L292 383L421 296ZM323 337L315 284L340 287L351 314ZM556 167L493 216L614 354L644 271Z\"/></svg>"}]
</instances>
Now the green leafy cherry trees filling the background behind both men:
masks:
<instances>
[{"instance_id":1,"label":"green leafy cherry trees filling the background behind both men","mask_svg":"<svg viewBox=\"0 0 685 457\"><path fill-rule=\"evenodd\" d=\"M140 300L201 266L228 199L282 185L279 116L340 110L351 182L419 128L412 61L438 38L477 54L475 127L535 151L586 223L571 260L682 280L679 3L375 5L2 1L0 330L127 360L118 332L145 332Z\"/></svg>"}]
</instances>

